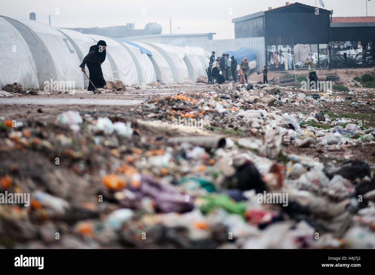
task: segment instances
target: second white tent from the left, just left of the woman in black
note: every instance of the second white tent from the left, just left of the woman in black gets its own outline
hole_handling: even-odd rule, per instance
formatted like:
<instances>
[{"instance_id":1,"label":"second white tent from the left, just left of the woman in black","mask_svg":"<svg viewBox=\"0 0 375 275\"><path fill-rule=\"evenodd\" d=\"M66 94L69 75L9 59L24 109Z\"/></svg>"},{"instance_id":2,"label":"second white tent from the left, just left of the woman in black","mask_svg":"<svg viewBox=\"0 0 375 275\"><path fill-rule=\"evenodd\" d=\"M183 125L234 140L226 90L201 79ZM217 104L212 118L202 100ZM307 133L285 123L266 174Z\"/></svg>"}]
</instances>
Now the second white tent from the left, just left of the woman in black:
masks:
<instances>
[{"instance_id":1,"label":"second white tent from the left, just left of the woman in black","mask_svg":"<svg viewBox=\"0 0 375 275\"><path fill-rule=\"evenodd\" d=\"M3 16L26 40L36 65L40 89L50 89L52 81L68 81L69 89L83 89L83 74L77 73L81 64L69 39L54 27L34 20L19 20ZM46 88L48 85L49 88ZM65 88L68 89L68 88Z\"/></svg>"}]
</instances>

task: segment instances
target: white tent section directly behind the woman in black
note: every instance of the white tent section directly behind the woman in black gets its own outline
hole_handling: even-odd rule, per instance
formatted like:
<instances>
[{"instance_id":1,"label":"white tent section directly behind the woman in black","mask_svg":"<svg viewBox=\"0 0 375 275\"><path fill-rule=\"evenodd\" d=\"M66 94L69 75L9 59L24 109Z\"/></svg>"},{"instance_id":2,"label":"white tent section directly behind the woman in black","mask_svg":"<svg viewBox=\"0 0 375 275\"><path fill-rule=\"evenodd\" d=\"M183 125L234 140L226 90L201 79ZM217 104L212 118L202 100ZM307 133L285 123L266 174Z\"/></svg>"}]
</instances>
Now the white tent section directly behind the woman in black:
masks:
<instances>
[{"instance_id":1,"label":"white tent section directly behind the woman in black","mask_svg":"<svg viewBox=\"0 0 375 275\"><path fill-rule=\"evenodd\" d=\"M83 58L88 54L90 46L95 45L97 42L90 38L87 34L79 33L78 31L74 30L68 30L68 29L60 29L57 28L57 30L61 31L63 34L65 34L66 37L69 38L70 42L74 46L75 50L77 51L78 57L80 58L80 61L83 61ZM107 58L104 60L102 64L102 71L104 79L107 81L113 81L113 72L112 67L110 63L110 54L107 53ZM86 74L90 77L89 69L86 68ZM78 68L80 70L80 68ZM89 80L87 77L84 77L84 83L85 83L85 89L89 86Z\"/></svg>"}]
</instances>

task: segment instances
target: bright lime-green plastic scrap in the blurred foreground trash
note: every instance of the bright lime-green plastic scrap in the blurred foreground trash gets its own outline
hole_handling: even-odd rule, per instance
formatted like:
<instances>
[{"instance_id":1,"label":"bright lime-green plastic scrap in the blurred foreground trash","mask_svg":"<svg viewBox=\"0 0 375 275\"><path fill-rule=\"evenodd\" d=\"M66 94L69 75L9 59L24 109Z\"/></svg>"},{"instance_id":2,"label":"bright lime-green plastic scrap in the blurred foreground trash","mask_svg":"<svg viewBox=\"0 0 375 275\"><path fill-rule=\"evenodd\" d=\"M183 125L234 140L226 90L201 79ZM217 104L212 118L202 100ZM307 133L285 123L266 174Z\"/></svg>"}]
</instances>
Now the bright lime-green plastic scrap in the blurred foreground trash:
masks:
<instances>
[{"instance_id":1,"label":"bright lime-green plastic scrap in the blurred foreground trash","mask_svg":"<svg viewBox=\"0 0 375 275\"><path fill-rule=\"evenodd\" d=\"M201 198L206 200L200 208L203 214L207 214L217 207L222 207L229 213L239 214L243 217L246 210L246 201L236 202L227 195L208 195Z\"/></svg>"}]
</instances>

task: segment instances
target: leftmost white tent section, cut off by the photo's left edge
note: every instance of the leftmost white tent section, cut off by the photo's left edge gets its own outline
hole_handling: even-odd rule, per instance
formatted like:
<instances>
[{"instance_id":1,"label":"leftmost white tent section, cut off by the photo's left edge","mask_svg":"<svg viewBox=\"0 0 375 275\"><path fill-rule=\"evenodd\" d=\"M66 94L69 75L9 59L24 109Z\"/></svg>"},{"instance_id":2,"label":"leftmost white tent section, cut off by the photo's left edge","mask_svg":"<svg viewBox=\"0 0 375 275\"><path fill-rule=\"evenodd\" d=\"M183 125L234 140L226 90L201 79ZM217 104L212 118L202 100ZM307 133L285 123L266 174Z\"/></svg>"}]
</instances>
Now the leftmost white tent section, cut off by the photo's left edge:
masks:
<instances>
[{"instance_id":1,"label":"leftmost white tent section, cut off by the photo's left edge","mask_svg":"<svg viewBox=\"0 0 375 275\"><path fill-rule=\"evenodd\" d=\"M1 17L0 28L0 89L14 82L25 89L39 88L34 58L25 39Z\"/></svg>"}]
</instances>

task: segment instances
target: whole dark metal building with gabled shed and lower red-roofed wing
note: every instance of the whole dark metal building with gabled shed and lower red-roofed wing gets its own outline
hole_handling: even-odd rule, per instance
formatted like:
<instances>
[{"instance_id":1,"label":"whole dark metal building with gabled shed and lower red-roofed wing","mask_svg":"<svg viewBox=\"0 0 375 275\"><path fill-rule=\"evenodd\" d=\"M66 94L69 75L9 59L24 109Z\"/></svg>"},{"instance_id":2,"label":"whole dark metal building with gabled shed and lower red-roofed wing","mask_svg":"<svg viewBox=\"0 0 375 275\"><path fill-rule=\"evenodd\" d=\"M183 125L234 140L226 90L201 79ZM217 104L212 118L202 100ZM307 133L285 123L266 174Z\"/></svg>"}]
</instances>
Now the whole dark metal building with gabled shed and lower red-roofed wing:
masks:
<instances>
[{"instance_id":1,"label":"whole dark metal building with gabled shed and lower red-roofed wing","mask_svg":"<svg viewBox=\"0 0 375 275\"><path fill-rule=\"evenodd\" d=\"M375 16L333 17L333 10L326 10L301 3L252 13L232 19L235 38L264 37L264 53L269 57L269 46L281 49L283 45L330 44L330 42L359 41L368 45L375 41ZM369 43L373 48L373 43ZM318 65L319 65L319 46ZM332 50L330 52L332 56ZM366 53L365 64L366 64Z\"/></svg>"}]
</instances>

